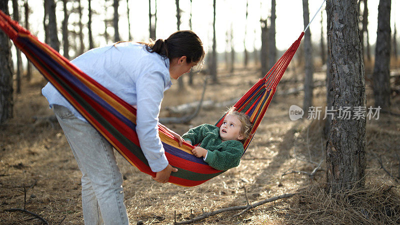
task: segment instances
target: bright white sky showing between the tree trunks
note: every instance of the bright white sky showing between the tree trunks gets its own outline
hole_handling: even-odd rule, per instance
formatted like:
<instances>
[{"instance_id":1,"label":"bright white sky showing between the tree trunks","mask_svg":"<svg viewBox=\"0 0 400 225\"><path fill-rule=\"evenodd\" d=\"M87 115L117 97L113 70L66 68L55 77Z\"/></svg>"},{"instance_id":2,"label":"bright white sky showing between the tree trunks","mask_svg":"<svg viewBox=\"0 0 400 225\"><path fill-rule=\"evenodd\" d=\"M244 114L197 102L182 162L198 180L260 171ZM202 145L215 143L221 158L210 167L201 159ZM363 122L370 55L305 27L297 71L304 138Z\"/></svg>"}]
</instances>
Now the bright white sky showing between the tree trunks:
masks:
<instances>
[{"instance_id":1,"label":"bright white sky showing between the tree trunks","mask_svg":"<svg viewBox=\"0 0 400 225\"><path fill-rule=\"evenodd\" d=\"M153 0L152 0L153 1ZM39 3L40 2L40 3ZM56 1L56 17L57 28L60 29L63 19L62 2ZM131 33L133 40L148 39L148 0L128 0L129 16L131 22ZM37 0L28 0L31 7L31 15L29 17L30 31L36 35L39 40L44 40L44 32L42 25L43 3ZM310 19L318 10L322 0L309 0ZM368 1L368 29L369 42L373 44L376 40L377 27L377 7L379 0ZM67 8L71 9L73 4L77 2L68 2ZM82 22L87 23L87 1L81 0L83 7ZM22 5L22 4L20 4ZM107 7L107 10L105 8ZM180 0L179 6L181 13L181 29L189 29L189 13L190 0ZM396 8L400 6L396 0L391 2L391 29L394 30L394 22L396 21L397 30L400 29L400 11ZM324 11L325 3L322 6L323 16L323 32L326 36L326 13ZM99 35L104 32L104 17L111 19L113 16L112 0L92 0L92 9L98 14L93 14L92 27L93 38L96 46L105 45L103 36ZM12 4L9 1L9 10L12 13ZM216 46L218 52L225 51L225 35L226 31L233 27L233 41L235 51L244 49L243 39L246 32L246 48L252 50L253 47L259 49L260 40L260 17L266 18L270 15L270 0L248 0L248 18L245 20L246 0L216 0ZM122 40L128 40L127 31L127 15L126 0L119 1L118 13L119 17L119 33ZM192 0L192 27L199 35L207 49L212 44L212 0ZM21 14L20 14L21 15ZM76 21L77 15L69 16L70 26ZM299 36L304 29L302 21L302 2L301 0L279 0L276 1L276 47L278 50L287 49L290 44ZM317 13L314 21L310 25L312 41L318 43L320 41L320 20L321 13ZM21 22L24 24L23 22ZM176 5L175 0L157 0L157 38L166 38L168 35L176 31ZM69 29L73 29L69 27ZM87 33L87 27L83 32ZM113 27L109 26L107 32L113 35ZM397 33L399 33L397 31ZM397 34L398 35L398 34ZM87 35L84 36L85 43L88 43ZM59 32L61 40L61 32ZM88 44L87 44L88 45ZM229 47L230 48L230 47Z\"/></svg>"}]
</instances>

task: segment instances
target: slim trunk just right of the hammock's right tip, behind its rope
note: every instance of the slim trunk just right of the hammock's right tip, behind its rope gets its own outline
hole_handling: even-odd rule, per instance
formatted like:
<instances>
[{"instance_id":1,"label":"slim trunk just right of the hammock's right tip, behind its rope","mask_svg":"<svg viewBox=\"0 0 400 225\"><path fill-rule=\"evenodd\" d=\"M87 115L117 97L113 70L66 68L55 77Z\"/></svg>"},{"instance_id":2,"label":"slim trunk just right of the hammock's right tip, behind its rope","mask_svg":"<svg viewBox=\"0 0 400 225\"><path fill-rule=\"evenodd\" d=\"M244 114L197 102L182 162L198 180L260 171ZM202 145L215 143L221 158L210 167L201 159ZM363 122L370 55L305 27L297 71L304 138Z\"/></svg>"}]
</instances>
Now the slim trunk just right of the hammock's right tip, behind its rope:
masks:
<instances>
[{"instance_id":1,"label":"slim trunk just right of the hammock's right tip, behind its rope","mask_svg":"<svg viewBox=\"0 0 400 225\"><path fill-rule=\"evenodd\" d=\"M303 22L304 28L309 23L308 0L303 0ZM312 46L311 46L311 32L309 29L304 34L304 100L303 110L308 112L308 108L312 104L312 73L313 73L313 60L312 60Z\"/></svg>"}]
</instances>

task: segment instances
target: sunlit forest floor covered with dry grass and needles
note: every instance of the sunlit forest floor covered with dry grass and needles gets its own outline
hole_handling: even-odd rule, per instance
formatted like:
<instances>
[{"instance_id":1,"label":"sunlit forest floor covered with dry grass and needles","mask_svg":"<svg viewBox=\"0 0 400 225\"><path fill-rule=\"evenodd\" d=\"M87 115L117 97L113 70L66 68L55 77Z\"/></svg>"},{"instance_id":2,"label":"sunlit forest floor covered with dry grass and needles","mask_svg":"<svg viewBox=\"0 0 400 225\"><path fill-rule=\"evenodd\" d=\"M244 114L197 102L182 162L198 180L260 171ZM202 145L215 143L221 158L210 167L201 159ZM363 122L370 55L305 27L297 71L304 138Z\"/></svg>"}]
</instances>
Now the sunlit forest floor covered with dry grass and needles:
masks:
<instances>
[{"instance_id":1,"label":"sunlit forest floor covered with dry grass and needles","mask_svg":"<svg viewBox=\"0 0 400 225\"><path fill-rule=\"evenodd\" d=\"M259 75L260 72L254 69L238 68L233 73L221 70L219 82L207 85L205 100L221 102L240 97L258 80ZM320 195L321 198L317 201L321 204L331 196L323 188L326 173L323 116L314 120L292 121L289 119L289 107L292 104L301 106L303 95L301 92L279 94L290 87L301 85L300 82L295 82L296 75L303 76L301 72L289 67L240 165L201 185L181 187L157 183L115 152L123 174L124 202L130 222L171 224L174 222L175 212L176 221L183 221L201 214L202 211L246 205L247 199L253 203L283 193L297 194L291 198L262 204L240 216L233 216L240 210L230 211L205 218L198 223L362 223L362 218L365 223L370 224L400 222L398 204L396 206L387 201L377 208L383 208L383 213L392 220L382 218L372 207L364 204L362 199L358 199L356 204L365 206L350 215L345 212L340 214L339 209L329 208L328 205L306 204L305 196L308 195L301 193L308 191L310 195ZM324 77L324 72L320 71L315 73L314 79L323 80ZM184 78L184 82L187 82L187 77ZM199 100L203 79L203 75L196 74L194 84L186 85L180 90L177 82L174 82L172 88L165 92L160 116L170 116L165 110L166 106ZM0 126L0 224L40 224L34 216L6 211L9 208L26 208L42 216L49 224L83 224L81 173L58 123L48 119L52 111L40 92L45 83L44 78L37 73L29 83L24 82L21 93L14 97L13 118ZM373 102L369 87L366 93L366 103L369 106ZM325 88L317 87L313 94L313 106L324 108ZM380 113L379 119L376 120L375 117L366 120L365 180L367 186L374 189L379 197L399 202L396 201L400 199L397 188L399 183L381 168L378 160L381 159L382 165L393 176L400 176L399 94L393 95L391 102L390 110L394 114ZM183 134L188 128L201 123L214 123L226 106L201 110L188 124L165 125ZM321 160L322 164L312 178L298 172L282 176L292 170L311 172ZM366 192L362 193L365 195ZM327 204L331 206L332 201ZM306 207L309 213L301 211L302 205L308 205ZM344 204L339 202L337 205ZM329 220L320 220L321 217Z\"/></svg>"}]
</instances>

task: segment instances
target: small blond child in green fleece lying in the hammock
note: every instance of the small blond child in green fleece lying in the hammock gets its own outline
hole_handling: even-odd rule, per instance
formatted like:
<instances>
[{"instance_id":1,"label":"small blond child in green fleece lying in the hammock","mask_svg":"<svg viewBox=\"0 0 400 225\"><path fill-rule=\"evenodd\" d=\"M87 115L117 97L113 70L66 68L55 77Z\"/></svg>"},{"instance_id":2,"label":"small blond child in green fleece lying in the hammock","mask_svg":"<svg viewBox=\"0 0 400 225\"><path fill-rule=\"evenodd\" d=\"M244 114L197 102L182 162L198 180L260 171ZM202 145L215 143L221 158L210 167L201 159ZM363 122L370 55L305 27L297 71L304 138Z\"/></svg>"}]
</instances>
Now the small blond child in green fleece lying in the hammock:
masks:
<instances>
[{"instance_id":1,"label":"small blond child in green fleece lying in the hammock","mask_svg":"<svg viewBox=\"0 0 400 225\"><path fill-rule=\"evenodd\" d=\"M208 165L218 170L226 170L239 165L244 152L243 143L249 136L251 122L243 112L227 111L220 127L202 124L189 129L182 138L189 144L200 143L191 152L203 157Z\"/></svg>"}]
</instances>

